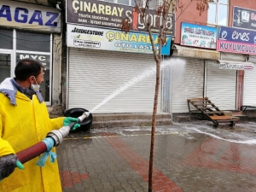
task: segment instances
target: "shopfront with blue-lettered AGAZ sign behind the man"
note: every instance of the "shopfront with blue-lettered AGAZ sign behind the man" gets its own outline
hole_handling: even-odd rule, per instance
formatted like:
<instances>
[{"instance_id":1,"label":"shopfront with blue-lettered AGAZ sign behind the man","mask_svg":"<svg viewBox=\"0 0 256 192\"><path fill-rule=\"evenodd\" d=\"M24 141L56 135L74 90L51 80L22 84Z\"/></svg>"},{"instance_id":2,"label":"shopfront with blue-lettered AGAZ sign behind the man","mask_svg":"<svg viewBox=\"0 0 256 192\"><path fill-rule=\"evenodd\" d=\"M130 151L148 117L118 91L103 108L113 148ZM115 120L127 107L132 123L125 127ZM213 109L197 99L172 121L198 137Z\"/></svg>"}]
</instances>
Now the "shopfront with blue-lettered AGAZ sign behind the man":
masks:
<instances>
[{"instance_id":1,"label":"shopfront with blue-lettered AGAZ sign behind the man","mask_svg":"<svg viewBox=\"0 0 256 192\"><path fill-rule=\"evenodd\" d=\"M21 59L41 61L42 95L51 106L60 103L61 12L47 1L36 2L0 2L0 83L15 77L15 65Z\"/></svg>"}]
</instances>

